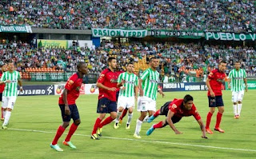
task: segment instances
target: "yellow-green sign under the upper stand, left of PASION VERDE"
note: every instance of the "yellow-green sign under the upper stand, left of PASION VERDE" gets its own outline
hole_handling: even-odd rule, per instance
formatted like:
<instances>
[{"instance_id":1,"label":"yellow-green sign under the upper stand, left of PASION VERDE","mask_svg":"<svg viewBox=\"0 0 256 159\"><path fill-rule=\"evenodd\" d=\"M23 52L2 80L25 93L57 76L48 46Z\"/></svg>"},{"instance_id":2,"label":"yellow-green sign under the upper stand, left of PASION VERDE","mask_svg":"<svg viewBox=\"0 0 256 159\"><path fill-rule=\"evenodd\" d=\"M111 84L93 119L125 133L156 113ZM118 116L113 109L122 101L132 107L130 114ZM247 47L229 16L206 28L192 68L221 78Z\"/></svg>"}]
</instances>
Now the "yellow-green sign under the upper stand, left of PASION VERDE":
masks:
<instances>
[{"instance_id":1,"label":"yellow-green sign under the upper stand, left of PASION VERDE","mask_svg":"<svg viewBox=\"0 0 256 159\"><path fill-rule=\"evenodd\" d=\"M67 40L43 40L38 39L38 48L41 47L54 47L54 48L64 48L66 49L68 47L68 41Z\"/></svg>"}]
</instances>

